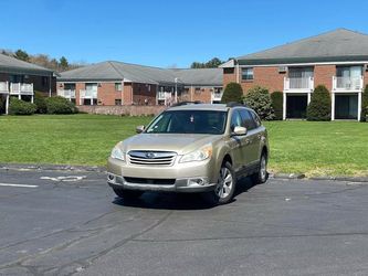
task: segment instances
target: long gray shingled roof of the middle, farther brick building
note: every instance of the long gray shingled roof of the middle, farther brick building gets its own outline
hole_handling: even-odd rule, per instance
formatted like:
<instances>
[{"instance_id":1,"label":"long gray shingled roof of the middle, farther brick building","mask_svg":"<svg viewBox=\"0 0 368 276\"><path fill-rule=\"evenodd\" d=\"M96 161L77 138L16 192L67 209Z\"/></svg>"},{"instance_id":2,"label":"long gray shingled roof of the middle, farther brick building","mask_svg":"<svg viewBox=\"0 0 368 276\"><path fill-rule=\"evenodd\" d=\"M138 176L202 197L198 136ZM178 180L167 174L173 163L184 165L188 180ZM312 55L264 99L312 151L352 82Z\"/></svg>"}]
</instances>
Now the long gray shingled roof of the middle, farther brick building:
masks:
<instances>
[{"instance_id":1,"label":"long gray shingled roof of the middle, farther brick building","mask_svg":"<svg viewBox=\"0 0 368 276\"><path fill-rule=\"evenodd\" d=\"M167 70L116 61L107 61L66 71L60 74L59 82L108 82L125 81L157 85L222 85L221 68Z\"/></svg>"}]
</instances>

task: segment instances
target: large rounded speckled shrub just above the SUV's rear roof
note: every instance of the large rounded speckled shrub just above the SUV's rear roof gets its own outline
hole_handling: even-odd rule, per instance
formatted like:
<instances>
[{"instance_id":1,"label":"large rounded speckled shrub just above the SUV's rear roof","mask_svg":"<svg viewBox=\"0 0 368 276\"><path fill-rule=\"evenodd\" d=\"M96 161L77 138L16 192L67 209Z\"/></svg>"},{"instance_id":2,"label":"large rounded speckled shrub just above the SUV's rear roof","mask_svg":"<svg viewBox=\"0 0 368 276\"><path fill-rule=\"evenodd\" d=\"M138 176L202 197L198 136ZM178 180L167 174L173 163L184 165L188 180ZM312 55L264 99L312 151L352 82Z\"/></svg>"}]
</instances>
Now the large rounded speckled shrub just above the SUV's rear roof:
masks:
<instances>
[{"instance_id":1,"label":"large rounded speckled shrub just above the SUV's rear roof","mask_svg":"<svg viewBox=\"0 0 368 276\"><path fill-rule=\"evenodd\" d=\"M256 112L261 119L272 120L275 118L271 96L266 88L254 86L248 91L243 100L249 107Z\"/></svg>"}]
</instances>

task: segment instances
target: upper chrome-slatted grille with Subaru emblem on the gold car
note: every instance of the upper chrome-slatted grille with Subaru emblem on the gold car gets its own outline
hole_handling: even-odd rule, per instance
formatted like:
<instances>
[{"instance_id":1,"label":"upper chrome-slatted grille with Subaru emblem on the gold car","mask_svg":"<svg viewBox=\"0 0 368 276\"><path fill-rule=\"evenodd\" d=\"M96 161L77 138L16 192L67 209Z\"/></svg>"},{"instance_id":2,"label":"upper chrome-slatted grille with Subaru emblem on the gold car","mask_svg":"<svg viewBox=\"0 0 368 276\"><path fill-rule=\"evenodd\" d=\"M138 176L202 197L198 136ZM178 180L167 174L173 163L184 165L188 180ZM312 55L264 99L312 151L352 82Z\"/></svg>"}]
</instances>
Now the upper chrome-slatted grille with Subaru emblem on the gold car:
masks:
<instances>
[{"instance_id":1,"label":"upper chrome-slatted grille with Subaru emblem on the gold car","mask_svg":"<svg viewBox=\"0 0 368 276\"><path fill-rule=\"evenodd\" d=\"M172 151L137 151L128 152L129 162L141 166L172 166L177 153Z\"/></svg>"}]
</instances>

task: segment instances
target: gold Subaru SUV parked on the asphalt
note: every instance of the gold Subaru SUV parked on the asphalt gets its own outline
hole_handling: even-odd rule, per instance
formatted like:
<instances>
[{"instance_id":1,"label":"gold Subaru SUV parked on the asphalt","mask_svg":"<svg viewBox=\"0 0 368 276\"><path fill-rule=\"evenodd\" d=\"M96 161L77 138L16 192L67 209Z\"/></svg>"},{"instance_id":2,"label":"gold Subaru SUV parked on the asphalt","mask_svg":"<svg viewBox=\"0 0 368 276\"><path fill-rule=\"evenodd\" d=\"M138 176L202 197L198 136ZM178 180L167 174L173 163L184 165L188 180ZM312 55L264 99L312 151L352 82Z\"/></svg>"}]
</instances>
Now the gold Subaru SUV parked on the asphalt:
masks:
<instances>
[{"instance_id":1,"label":"gold Subaru SUV parked on the asphalt","mask_svg":"<svg viewBox=\"0 0 368 276\"><path fill-rule=\"evenodd\" d=\"M239 178L267 180L267 131L243 105L179 104L137 132L118 142L108 158L107 182L118 197L202 192L224 204Z\"/></svg>"}]
</instances>

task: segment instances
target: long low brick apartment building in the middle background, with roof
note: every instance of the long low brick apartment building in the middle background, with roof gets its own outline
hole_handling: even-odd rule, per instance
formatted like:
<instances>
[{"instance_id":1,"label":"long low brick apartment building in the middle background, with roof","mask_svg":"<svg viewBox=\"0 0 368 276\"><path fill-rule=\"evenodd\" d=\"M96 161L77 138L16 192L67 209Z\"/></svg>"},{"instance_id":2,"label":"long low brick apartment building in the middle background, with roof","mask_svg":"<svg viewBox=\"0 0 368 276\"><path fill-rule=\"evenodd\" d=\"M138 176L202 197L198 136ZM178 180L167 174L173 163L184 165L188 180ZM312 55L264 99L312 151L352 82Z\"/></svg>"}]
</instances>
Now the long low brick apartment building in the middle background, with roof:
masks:
<instances>
[{"instance_id":1,"label":"long low brick apartment building in the middle background, with roof","mask_svg":"<svg viewBox=\"0 0 368 276\"><path fill-rule=\"evenodd\" d=\"M78 106L217 103L222 83L221 68L167 70L108 61L61 73L57 95Z\"/></svg>"}]
</instances>

